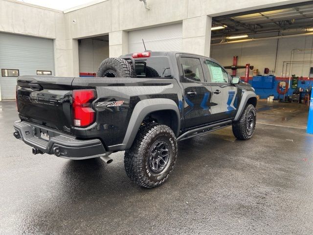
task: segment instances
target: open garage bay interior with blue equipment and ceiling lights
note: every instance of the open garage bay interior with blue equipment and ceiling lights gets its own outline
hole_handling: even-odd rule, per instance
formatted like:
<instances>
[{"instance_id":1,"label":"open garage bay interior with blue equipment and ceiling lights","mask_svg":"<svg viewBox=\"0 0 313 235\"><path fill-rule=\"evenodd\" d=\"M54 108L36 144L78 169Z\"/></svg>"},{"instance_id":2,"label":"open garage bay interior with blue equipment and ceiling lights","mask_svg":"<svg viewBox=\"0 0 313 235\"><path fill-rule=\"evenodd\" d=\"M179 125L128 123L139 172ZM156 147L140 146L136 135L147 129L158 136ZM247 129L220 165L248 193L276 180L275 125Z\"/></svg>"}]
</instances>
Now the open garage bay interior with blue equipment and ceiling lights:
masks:
<instances>
[{"instance_id":1,"label":"open garage bay interior with blue equipment and ceiling lights","mask_svg":"<svg viewBox=\"0 0 313 235\"><path fill-rule=\"evenodd\" d=\"M312 2L213 17L211 57L255 89L259 122L307 127L312 26Z\"/></svg>"}]
</instances>

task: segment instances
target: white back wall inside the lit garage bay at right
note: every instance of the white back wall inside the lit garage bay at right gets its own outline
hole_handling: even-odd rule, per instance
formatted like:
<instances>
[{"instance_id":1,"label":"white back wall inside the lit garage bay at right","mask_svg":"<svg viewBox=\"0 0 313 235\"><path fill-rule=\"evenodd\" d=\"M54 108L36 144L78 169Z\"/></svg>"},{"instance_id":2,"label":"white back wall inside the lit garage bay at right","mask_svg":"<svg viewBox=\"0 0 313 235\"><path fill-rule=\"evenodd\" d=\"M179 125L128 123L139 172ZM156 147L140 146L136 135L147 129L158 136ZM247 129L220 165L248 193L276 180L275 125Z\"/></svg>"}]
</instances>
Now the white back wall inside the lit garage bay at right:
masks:
<instances>
[{"instance_id":1,"label":"white back wall inside the lit garage bay at right","mask_svg":"<svg viewBox=\"0 0 313 235\"><path fill-rule=\"evenodd\" d=\"M250 65L254 69L258 69L259 73L263 75L264 68L270 71L275 70L277 39L260 40L243 43L223 44L211 46L211 57L219 61L223 66L230 66L233 64L233 56L238 55L237 65ZM283 61L291 60L292 49L313 49L313 36L282 38L278 41L276 72L274 75L289 76L290 65L285 74L286 65L283 70ZM293 61L313 60L313 53L309 52L294 52ZM286 64L286 63L285 63ZM291 74L297 76L308 77L310 64L293 64ZM231 70L228 70L231 71ZM252 76L250 72L250 76ZM270 72L269 74L272 74ZM237 70L237 75L245 76L245 69Z\"/></svg>"}]
</instances>

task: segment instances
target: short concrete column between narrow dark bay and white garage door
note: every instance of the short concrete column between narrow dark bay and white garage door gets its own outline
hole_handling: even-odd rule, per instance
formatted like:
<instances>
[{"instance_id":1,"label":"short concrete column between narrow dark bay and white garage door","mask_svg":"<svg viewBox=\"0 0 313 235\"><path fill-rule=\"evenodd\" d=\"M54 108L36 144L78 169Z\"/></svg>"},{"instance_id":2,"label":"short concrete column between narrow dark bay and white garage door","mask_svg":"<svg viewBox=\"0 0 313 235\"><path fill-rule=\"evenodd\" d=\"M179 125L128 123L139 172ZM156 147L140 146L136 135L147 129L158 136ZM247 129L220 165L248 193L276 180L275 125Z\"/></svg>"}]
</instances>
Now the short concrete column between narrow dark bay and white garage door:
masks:
<instances>
[{"instance_id":1,"label":"short concrete column between narrow dark bay and white garage door","mask_svg":"<svg viewBox=\"0 0 313 235\"><path fill-rule=\"evenodd\" d=\"M128 32L115 31L109 33L109 55L118 57L128 53Z\"/></svg>"}]
</instances>

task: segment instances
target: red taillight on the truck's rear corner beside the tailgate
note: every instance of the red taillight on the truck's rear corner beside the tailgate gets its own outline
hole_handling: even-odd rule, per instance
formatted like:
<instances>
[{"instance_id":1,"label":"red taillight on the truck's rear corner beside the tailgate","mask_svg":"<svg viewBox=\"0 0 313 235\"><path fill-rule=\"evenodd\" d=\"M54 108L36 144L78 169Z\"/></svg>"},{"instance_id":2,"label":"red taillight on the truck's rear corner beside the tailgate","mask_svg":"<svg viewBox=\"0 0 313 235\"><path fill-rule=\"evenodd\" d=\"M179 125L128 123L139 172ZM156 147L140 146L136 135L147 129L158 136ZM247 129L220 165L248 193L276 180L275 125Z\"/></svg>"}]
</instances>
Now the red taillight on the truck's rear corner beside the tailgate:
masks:
<instances>
[{"instance_id":1,"label":"red taillight on the truck's rear corner beside the tailgate","mask_svg":"<svg viewBox=\"0 0 313 235\"><path fill-rule=\"evenodd\" d=\"M73 90L74 126L88 126L95 119L91 102L96 98L94 90Z\"/></svg>"}]
</instances>

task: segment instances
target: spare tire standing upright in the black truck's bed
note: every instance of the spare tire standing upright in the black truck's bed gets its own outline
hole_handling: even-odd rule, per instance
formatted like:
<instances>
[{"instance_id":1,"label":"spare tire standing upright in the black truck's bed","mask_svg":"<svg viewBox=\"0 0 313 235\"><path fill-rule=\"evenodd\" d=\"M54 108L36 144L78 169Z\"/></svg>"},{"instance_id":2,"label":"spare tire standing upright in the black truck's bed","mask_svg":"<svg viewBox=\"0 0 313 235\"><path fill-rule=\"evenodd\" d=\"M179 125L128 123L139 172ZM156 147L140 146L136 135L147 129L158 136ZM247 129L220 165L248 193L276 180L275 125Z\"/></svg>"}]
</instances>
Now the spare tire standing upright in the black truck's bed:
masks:
<instances>
[{"instance_id":1,"label":"spare tire standing upright in the black truck's bed","mask_svg":"<svg viewBox=\"0 0 313 235\"><path fill-rule=\"evenodd\" d=\"M131 63L121 58L108 58L102 61L97 77L136 77Z\"/></svg>"}]
</instances>

